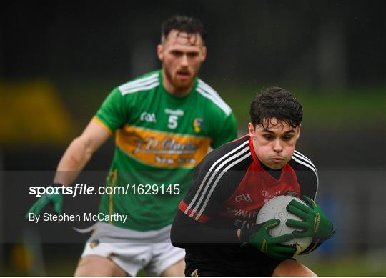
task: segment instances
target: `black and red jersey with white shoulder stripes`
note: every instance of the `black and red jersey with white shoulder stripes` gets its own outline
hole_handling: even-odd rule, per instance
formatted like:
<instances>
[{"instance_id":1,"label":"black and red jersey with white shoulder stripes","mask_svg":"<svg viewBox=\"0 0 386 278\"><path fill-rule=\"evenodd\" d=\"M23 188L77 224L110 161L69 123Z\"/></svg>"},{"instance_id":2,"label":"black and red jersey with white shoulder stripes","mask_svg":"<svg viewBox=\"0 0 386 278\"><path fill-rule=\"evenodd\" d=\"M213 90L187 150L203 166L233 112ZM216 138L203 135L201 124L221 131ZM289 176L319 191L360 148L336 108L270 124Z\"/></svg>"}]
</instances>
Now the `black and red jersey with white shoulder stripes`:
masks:
<instances>
[{"instance_id":1,"label":"black and red jersey with white shoulder stripes","mask_svg":"<svg viewBox=\"0 0 386 278\"><path fill-rule=\"evenodd\" d=\"M259 250L241 247L237 229L254 225L269 199L285 194L315 199L317 187L317 170L303 154L295 151L282 169L272 170L257 159L252 139L243 136L214 149L195 169L194 182L172 225L172 244L186 249L187 269L213 263L249 269L258 258L262 265L276 266L277 261ZM239 274L234 273L230 276Z\"/></svg>"}]
</instances>

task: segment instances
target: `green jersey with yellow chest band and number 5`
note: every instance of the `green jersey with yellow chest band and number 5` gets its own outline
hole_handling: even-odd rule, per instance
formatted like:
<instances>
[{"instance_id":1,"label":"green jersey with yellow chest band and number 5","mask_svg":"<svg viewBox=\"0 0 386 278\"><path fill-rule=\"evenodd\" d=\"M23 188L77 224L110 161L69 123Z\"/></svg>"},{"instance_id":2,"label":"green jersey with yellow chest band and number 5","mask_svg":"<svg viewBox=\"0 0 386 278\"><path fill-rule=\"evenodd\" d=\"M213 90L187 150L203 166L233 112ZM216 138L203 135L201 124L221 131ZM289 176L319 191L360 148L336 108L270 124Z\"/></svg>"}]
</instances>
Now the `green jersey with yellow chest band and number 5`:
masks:
<instances>
[{"instance_id":1,"label":"green jersey with yellow chest band and number 5","mask_svg":"<svg viewBox=\"0 0 386 278\"><path fill-rule=\"evenodd\" d=\"M237 137L232 109L214 89L196 78L187 96L172 96L161 70L114 89L94 121L115 134L107 186L126 189L103 195L99 212L127 214L127 222L112 224L138 231L172 224L192 169L209 147Z\"/></svg>"}]
</instances>

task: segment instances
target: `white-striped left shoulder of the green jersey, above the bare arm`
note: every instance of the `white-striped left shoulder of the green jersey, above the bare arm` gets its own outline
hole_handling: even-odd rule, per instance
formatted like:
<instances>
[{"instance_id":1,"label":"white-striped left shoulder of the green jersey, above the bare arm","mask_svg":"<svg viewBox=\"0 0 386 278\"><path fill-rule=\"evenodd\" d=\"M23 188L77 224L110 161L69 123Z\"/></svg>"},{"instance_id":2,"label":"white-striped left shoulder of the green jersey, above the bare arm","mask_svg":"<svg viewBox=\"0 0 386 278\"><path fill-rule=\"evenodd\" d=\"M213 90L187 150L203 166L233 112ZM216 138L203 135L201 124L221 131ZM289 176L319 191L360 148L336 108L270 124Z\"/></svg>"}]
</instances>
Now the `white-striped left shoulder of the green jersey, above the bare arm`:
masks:
<instances>
[{"instance_id":1,"label":"white-striped left shoulder of the green jersey, above the bare arm","mask_svg":"<svg viewBox=\"0 0 386 278\"><path fill-rule=\"evenodd\" d=\"M117 87L122 96L136 94L143 91L149 91L157 88L160 84L161 70L152 71L142 76L138 76L120 86Z\"/></svg>"}]
</instances>

